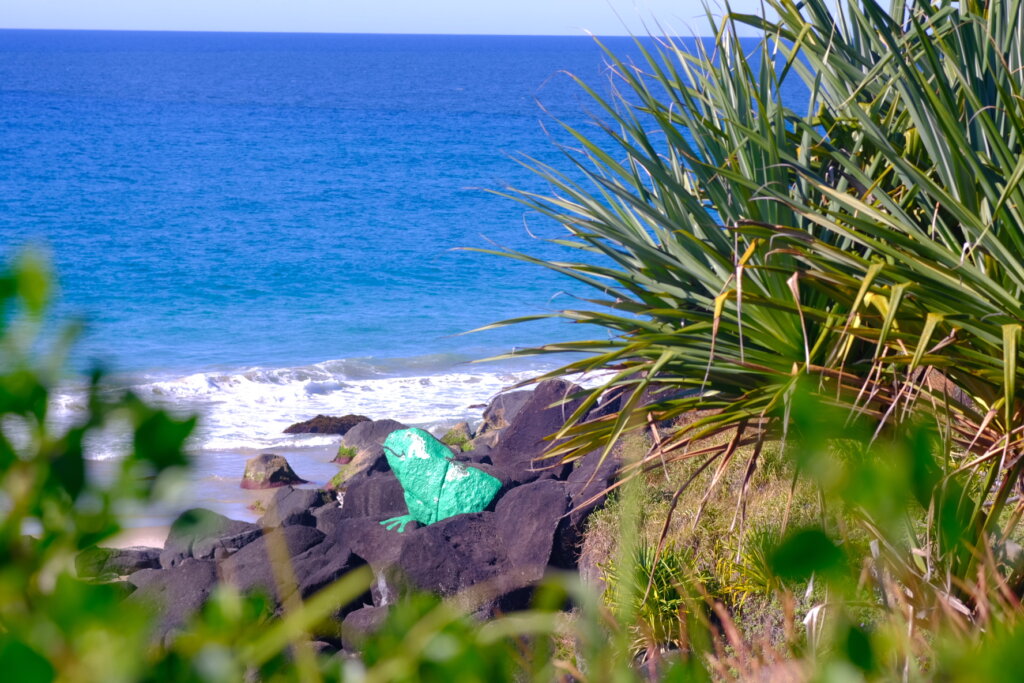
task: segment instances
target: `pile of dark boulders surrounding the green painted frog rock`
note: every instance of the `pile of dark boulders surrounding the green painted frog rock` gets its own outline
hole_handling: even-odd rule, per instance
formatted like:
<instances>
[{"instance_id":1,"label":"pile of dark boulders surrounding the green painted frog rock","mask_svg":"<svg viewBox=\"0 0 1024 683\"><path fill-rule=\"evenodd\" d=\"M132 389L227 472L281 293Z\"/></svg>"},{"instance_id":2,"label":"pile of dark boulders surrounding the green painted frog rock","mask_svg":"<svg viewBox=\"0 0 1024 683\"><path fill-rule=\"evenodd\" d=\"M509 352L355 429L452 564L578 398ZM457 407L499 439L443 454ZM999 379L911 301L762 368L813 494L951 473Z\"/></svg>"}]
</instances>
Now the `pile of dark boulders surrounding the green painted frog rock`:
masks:
<instances>
[{"instance_id":1,"label":"pile of dark boulders surrounding the green painted frog rock","mask_svg":"<svg viewBox=\"0 0 1024 683\"><path fill-rule=\"evenodd\" d=\"M493 426L485 435L493 447L435 455L442 463L459 460L464 464L458 467L476 468L499 480L501 487L482 511L427 525L412 521L401 533L381 525L410 512L406 490L382 449L386 437L404 426L360 422L343 437L358 450L360 465L337 496L283 485L257 524L189 510L171 527L159 557L163 568L129 575L128 584L136 590L127 599L154 605L160 613L157 636L167 639L218 582L245 593L262 593L281 606L369 565L369 591L337 606L333 628L344 623L328 638L335 646L342 642L357 648L380 627L389 605L412 590L452 597L487 617L527 606L534 587L550 567L585 565L582 570L594 580L597 569L592 565L599 560L581 559L582 532L587 516L603 503L603 490L614 481L618 461L602 461L596 452L574 466L545 468L536 462L549 445L545 437L579 404L577 399L567 405L555 403L577 390L568 382L550 381L534 392L520 392L523 395L514 401L506 394L501 410L488 409ZM83 577L128 573L140 566L133 563L136 559L152 564L153 552L140 550L137 558L128 551L117 556L83 553L80 571Z\"/></svg>"}]
</instances>

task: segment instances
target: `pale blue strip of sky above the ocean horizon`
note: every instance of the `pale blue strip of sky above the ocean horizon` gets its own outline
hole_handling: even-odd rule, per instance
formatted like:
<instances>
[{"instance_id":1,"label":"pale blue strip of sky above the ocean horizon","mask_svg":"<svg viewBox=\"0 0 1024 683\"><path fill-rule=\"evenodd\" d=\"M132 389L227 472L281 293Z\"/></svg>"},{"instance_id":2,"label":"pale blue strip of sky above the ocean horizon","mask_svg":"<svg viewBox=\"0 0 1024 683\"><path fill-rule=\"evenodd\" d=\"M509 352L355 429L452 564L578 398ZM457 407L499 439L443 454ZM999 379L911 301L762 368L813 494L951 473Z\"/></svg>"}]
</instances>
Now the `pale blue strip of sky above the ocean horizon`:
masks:
<instances>
[{"instance_id":1,"label":"pale blue strip of sky above the ocean horizon","mask_svg":"<svg viewBox=\"0 0 1024 683\"><path fill-rule=\"evenodd\" d=\"M652 17L708 33L694 0L0 0L7 29L620 35Z\"/></svg>"}]
</instances>

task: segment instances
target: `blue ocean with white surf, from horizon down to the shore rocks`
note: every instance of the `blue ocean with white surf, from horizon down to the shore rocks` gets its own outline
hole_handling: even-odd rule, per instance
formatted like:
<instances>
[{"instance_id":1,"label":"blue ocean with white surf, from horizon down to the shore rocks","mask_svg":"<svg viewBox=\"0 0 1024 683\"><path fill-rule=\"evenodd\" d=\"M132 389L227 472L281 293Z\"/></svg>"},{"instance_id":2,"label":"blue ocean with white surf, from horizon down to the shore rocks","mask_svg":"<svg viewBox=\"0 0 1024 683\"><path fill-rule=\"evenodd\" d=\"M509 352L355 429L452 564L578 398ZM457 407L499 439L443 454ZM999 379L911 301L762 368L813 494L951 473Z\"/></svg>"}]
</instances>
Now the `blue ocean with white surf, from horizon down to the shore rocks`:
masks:
<instances>
[{"instance_id":1,"label":"blue ocean with white surf, from horizon down to the shore rocks","mask_svg":"<svg viewBox=\"0 0 1024 683\"><path fill-rule=\"evenodd\" d=\"M0 259L43 248L55 316L87 326L56 421L97 365L201 418L182 493L133 523L251 518L247 458L337 471L338 437L289 424L476 420L551 364L470 361L602 334L462 334L571 303L550 271L461 251L559 255L557 226L488 190L544 190L522 157L569 168L557 121L596 106L566 72L607 81L588 37L0 31ZM89 457L101 473L126 445Z\"/></svg>"}]
</instances>

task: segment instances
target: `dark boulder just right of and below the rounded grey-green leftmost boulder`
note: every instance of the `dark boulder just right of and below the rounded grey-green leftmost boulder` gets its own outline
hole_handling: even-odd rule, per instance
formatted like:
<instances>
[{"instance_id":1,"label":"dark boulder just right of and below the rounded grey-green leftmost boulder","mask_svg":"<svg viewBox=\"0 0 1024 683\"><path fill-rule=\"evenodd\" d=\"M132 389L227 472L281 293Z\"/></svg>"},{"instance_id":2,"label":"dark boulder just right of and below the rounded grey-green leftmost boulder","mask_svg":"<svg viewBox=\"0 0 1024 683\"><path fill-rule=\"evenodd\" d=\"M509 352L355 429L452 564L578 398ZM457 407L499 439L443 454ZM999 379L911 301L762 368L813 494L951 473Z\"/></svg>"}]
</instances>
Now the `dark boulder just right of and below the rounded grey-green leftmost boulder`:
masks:
<instances>
[{"instance_id":1,"label":"dark boulder just right of and below the rounded grey-green leftmost boulder","mask_svg":"<svg viewBox=\"0 0 1024 683\"><path fill-rule=\"evenodd\" d=\"M269 535L275 535L271 540ZM271 566L271 557L278 562L289 562L294 570L294 559L324 541L324 535L311 526L282 526L267 531L267 536L255 541L220 563L223 580L243 593L260 591L268 596L285 600L295 591L296 586L285 586L280 590L278 573ZM284 543L287 557L275 557L272 543ZM278 572L287 567L279 564Z\"/></svg>"}]
</instances>

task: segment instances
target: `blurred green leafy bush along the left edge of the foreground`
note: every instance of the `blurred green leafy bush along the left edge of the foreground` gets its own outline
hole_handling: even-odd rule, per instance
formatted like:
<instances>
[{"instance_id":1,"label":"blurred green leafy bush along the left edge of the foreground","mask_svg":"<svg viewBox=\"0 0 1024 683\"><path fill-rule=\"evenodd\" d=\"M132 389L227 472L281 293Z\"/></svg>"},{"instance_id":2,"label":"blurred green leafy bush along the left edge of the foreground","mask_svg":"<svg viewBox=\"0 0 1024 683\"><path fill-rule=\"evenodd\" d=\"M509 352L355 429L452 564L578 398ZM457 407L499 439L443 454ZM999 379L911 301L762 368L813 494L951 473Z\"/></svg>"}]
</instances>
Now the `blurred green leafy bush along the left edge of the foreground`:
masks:
<instances>
[{"instance_id":1,"label":"blurred green leafy bush along the left edge of the foreground","mask_svg":"<svg viewBox=\"0 0 1024 683\"><path fill-rule=\"evenodd\" d=\"M111 398L95 372L87 412L62 431L49 420L74 329L39 354L49 280L42 260L24 256L0 273L0 658L23 680L125 680L143 671L138 655L147 618L123 591L74 578L80 550L120 528L124 501L152 497L165 472L183 467L195 419L177 419L131 395ZM90 436L112 425L135 434L115 476L100 483L84 459ZM13 680L13 679L12 679Z\"/></svg>"}]
</instances>

